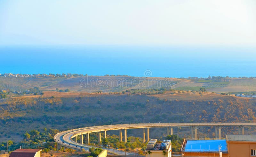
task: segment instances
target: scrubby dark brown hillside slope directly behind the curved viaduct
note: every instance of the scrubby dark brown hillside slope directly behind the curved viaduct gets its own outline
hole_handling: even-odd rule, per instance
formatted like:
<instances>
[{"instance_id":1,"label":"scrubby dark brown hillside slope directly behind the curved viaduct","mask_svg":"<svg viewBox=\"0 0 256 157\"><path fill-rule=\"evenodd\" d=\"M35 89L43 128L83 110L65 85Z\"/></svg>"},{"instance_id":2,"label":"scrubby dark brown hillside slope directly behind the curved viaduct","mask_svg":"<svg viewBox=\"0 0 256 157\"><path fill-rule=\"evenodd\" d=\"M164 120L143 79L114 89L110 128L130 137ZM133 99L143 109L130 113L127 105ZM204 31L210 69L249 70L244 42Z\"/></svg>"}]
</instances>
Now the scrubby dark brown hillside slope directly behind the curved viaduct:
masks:
<instances>
[{"instance_id":1,"label":"scrubby dark brown hillside slope directly behind the curved viaduct","mask_svg":"<svg viewBox=\"0 0 256 157\"><path fill-rule=\"evenodd\" d=\"M256 99L184 91L158 95L45 92L0 100L0 136L44 127L159 122L256 122ZM65 96L66 95L66 96ZM203 128L200 128L201 132ZM208 130L209 129L209 130ZM246 131L253 132L255 128ZM180 130L189 135L189 129ZM214 128L207 128L207 136ZM222 129L223 133L236 128ZM165 132L165 129L163 130ZM255 133L255 132L254 132ZM223 134L224 135L224 134Z\"/></svg>"}]
</instances>

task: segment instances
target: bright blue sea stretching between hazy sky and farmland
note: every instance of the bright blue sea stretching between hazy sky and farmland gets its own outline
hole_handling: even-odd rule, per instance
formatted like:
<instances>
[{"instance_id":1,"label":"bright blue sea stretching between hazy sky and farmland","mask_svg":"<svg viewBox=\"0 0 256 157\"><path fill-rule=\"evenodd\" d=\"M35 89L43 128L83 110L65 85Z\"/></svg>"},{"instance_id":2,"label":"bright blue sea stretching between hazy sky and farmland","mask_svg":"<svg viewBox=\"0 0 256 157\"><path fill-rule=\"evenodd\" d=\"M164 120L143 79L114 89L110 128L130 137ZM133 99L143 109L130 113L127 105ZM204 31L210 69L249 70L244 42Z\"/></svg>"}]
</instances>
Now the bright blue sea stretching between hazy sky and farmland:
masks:
<instances>
[{"instance_id":1,"label":"bright blue sea stretching between hazy sky and farmland","mask_svg":"<svg viewBox=\"0 0 256 157\"><path fill-rule=\"evenodd\" d=\"M0 73L255 77L256 49L186 46L1 46ZM147 75L148 76L148 75Z\"/></svg>"}]
</instances>

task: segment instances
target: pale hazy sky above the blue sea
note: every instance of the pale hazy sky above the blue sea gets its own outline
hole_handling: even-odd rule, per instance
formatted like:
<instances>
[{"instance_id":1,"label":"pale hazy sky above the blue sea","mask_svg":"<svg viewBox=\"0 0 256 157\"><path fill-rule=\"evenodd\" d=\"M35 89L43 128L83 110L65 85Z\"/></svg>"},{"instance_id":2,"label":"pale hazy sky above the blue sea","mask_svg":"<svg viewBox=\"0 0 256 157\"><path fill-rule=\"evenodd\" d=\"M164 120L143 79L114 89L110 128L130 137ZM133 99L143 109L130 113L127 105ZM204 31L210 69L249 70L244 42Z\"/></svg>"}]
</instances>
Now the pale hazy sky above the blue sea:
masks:
<instances>
[{"instance_id":1,"label":"pale hazy sky above the blue sea","mask_svg":"<svg viewBox=\"0 0 256 157\"><path fill-rule=\"evenodd\" d=\"M256 0L1 0L0 45L256 45Z\"/></svg>"}]
</instances>

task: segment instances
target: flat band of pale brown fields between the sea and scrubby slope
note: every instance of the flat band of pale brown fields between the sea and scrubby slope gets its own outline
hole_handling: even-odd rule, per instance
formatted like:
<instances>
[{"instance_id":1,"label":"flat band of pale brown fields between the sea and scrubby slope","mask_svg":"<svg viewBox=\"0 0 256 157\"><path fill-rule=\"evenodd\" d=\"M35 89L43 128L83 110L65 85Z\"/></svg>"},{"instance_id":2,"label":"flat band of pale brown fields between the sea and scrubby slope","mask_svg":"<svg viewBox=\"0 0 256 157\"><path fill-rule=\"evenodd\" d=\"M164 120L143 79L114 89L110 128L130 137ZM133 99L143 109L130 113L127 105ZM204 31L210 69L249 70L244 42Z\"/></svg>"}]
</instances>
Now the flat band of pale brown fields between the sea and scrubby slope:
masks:
<instances>
[{"instance_id":1,"label":"flat band of pale brown fields between the sea and scrubby slope","mask_svg":"<svg viewBox=\"0 0 256 157\"><path fill-rule=\"evenodd\" d=\"M256 79L229 78L228 81L214 81L131 76L0 77L0 90L17 92L33 87L39 87L43 91L56 91L58 88L88 92L120 92L127 89L157 89L160 87L198 91L199 88L204 87L210 92L255 92Z\"/></svg>"}]
</instances>

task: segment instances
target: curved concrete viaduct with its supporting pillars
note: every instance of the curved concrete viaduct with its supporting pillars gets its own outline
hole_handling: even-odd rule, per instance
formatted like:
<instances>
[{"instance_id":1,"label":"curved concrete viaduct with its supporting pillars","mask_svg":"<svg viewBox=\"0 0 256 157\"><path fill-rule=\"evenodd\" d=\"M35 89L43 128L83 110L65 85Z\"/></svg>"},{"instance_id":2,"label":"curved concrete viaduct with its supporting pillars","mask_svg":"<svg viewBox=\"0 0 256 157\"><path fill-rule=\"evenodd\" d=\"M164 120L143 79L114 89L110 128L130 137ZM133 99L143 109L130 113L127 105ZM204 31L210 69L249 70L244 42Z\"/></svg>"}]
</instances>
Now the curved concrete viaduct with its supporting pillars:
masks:
<instances>
[{"instance_id":1,"label":"curved concrete viaduct with its supporting pillars","mask_svg":"<svg viewBox=\"0 0 256 157\"><path fill-rule=\"evenodd\" d=\"M58 143L58 146L66 146L69 148L88 148L83 143L84 135L86 136L86 144L90 143L90 133L99 132L98 142L101 141L101 132L104 134L104 138L107 137L107 131L119 130L120 142L127 141L127 129L142 129L143 142L149 141L149 128L167 128L167 135L173 134L173 127L190 127L191 137L197 139L197 127L210 126L215 127L215 138L221 139L221 127L223 126L237 126L239 127L238 134L244 134L244 127L256 126L256 123L146 123L146 124L119 124L119 125L102 125L91 126L85 128L78 128L59 132L54 136L54 140ZM124 134L123 134L124 133ZM80 136L80 142L77 142L77 136Z\"/></svg>"}]
</instances>

